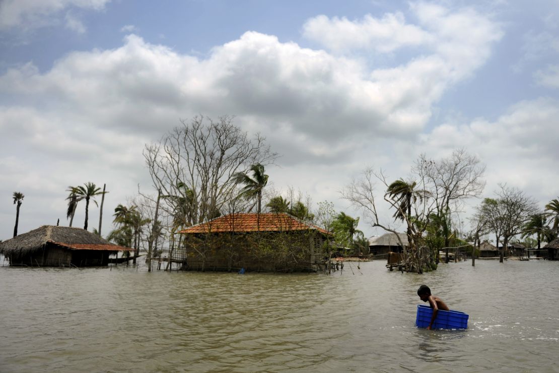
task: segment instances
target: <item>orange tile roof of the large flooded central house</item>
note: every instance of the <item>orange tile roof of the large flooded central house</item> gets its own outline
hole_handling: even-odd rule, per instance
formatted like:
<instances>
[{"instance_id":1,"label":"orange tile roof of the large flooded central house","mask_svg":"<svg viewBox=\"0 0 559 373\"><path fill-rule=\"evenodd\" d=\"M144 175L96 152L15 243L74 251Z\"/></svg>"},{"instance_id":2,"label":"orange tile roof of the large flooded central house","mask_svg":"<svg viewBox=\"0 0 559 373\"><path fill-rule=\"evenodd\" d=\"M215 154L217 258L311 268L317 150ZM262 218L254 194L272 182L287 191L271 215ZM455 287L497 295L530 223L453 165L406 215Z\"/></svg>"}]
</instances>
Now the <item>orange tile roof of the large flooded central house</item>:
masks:
<instances>
[{"instance_id":1,"label":"orange tile roof of the large flooded central house","mask_svg":"<svg viewBox=\"0 0 559 373\"><path fill-rule=\"evenodd\" d=\"M219 233L219 232L286 232L292 230L316 230L331 235L319 226L306 223L286 213L246 213L229 214L212 219L207 223L189 226L179 233Z\"/></svg>"}]
</instances>

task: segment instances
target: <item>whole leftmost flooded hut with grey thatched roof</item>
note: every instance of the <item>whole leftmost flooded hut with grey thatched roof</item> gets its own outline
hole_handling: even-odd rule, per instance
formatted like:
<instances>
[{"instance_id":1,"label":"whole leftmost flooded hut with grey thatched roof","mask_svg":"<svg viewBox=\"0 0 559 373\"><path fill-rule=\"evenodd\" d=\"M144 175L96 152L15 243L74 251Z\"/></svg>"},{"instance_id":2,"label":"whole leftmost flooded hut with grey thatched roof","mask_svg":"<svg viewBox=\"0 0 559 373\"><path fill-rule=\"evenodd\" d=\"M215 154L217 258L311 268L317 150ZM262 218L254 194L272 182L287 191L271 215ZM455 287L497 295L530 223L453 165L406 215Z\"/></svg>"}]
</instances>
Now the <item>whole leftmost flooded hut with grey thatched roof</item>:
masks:
<instances>
[{"instance_id":1,"label":"whole leftmost flooded hut with grey thatched roof","mask_svg":"<svg viewBox=\"0 0 559 373\"><path fill-rule=\"evenodd\" d=\"M81 228L43 225L0 243L11 266L106 266L109 256L131 251Z\"/></svg>"}]
</instances>

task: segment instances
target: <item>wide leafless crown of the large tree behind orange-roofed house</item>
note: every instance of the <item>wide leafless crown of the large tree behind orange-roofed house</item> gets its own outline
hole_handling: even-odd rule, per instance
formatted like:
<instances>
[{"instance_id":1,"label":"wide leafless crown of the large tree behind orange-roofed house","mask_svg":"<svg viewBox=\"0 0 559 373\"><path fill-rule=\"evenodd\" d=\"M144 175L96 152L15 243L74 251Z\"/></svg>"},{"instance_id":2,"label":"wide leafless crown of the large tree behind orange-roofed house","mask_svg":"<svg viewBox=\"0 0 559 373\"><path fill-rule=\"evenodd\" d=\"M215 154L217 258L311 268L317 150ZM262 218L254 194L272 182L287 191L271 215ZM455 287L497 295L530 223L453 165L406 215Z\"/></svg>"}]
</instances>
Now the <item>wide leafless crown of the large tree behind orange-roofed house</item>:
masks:
<instances>
[{"instance_id":1,"label":"wide leafless crown of the large tree behind orange-roofed house","mask_svg":"<svg viewBox=\"0 0 559 373\"><path fill-rule=\"evenodd\" d=\"M181 120L161 140L146 144L143 154L166 210L180 211L176 218L183 226L219 216L234 195L234 174L277 158L266 139L259 134L249 137L230 116Z\"/></svg>"}]
</instances>

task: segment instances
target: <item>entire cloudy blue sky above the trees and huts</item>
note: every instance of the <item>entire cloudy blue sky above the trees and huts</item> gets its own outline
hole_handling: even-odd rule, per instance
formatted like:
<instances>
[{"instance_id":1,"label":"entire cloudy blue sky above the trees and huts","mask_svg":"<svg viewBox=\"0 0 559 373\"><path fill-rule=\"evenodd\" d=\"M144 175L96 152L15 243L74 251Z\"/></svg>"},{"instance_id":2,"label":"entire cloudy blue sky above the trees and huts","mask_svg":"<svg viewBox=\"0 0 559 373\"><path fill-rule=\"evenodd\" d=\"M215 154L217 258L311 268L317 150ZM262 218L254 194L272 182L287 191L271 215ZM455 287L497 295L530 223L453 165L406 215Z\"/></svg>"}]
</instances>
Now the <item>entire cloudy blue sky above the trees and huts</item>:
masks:
<instances>
[{"instance_id":1,"label":"entire cloudy blue sky above the trees and huts","mask_svg":"<svg viewBox=\"0 0 559 373\"><path fill-rule=\"evenodd\" d=\"M364 168L396 180L464 148L483 197L506 183L543 208L559 195L558 57L555 0L0 0L0 239L13 192L24 233L67 225L85 182L107 185L107 234L117 204L153 193L145 144L195 115L265 136L271 187L315 207L357 217L340 190Z\"/></svg>"}]
</instances>

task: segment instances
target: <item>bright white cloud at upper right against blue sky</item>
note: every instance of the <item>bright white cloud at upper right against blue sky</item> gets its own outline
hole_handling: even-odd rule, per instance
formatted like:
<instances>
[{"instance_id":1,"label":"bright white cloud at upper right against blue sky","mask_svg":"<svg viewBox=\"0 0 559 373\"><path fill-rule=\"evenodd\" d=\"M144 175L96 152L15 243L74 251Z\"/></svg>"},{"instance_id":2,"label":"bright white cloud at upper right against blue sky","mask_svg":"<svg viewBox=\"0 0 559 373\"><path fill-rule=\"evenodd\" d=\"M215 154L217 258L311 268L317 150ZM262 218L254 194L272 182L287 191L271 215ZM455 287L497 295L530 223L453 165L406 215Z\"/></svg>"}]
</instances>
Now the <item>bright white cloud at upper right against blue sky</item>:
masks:
<instances>
[{"instance_id":1,"label":"bright white cloud at upper right against blue sky","mask_svg":"<svg viewBox=\"0 0 559 373\"><path fill-rule=\"evenodd\" d=\"M439 81L458 81L470 75L486 62L491 46L503 36L498 23L472 8L449 10L415 2L410 4L410 12L418 25L406 23L400 12L382 18L367 15L362 21L318 16L305 23L304 36L338 52L367 49L390 53L416 47L416 59L440 60L432 65L441 75Z\"/></svg>"}]
</instances>

